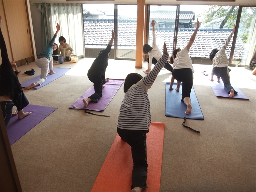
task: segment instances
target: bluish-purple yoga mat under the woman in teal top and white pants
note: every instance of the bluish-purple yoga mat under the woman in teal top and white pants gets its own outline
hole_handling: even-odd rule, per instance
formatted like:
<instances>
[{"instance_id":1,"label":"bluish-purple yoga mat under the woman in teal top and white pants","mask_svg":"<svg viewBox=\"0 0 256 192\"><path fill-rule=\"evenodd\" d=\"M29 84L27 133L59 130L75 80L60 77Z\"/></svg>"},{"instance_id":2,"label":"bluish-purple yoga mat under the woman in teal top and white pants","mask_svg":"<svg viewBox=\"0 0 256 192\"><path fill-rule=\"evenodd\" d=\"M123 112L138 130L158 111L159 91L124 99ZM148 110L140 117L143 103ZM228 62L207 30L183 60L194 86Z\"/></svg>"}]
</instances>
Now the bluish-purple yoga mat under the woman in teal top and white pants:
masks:
<instances>
[{"instance_id":1,"label":"bluish-purple yoga mat under the woman in teal top and white pants","mask_svg":"<svg viewBox=\"0 0 256 192\"><path fill-rule=\"evenodd\" d=\"M66 73L68 73L69 70L70 70L70 68L59 68L59 67L54 68L53 71L56 71L57 73L54 73L52 75L48 74L47 79L43 84L36 86L32 89L39 89L39 88L43 87L44 85L51 83L52 81L58 79L59 77L65 75ZM36 81L38 79L40 79L40 75L21 83L21 87L27 87L27 86L31 85L32 83L36 83Z\"/></svg>"}]
</instances>

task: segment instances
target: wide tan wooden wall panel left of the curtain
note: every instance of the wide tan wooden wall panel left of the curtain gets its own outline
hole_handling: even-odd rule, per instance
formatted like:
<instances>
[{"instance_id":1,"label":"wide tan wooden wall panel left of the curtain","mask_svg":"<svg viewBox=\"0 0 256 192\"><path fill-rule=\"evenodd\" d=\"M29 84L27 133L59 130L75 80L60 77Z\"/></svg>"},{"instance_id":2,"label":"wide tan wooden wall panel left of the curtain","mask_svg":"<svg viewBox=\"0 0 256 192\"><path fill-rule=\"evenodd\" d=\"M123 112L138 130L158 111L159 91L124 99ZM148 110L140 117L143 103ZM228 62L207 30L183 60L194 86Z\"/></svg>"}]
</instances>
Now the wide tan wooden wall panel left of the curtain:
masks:
<instances>
[{"instance_id":1,"label":"wide tan wooden wall panel left of the curtain","mask_svg":"<svg viewBox=\"0 0 256 192\"><path fill-rule=\"evenodd\" d=\"M19 61L32 57L25 1L3 0L3 4L13 60Z\"/></svg>"}]
</instances>

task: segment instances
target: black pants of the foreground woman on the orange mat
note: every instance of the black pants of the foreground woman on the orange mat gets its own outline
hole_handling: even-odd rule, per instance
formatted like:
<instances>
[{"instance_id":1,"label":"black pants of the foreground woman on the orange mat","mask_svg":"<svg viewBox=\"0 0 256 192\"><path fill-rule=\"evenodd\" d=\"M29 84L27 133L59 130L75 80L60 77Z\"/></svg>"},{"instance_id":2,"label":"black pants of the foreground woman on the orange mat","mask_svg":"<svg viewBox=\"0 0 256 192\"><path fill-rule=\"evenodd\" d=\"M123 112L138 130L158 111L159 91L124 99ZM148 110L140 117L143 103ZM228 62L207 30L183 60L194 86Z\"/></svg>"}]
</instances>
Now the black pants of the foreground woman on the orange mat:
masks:
<instances>
[{"instance_id":1,"label":"black pants of the foreground woman on the orange mat","mask_svg":"<svg viewBox=\"0 0 256 192\"><path fill-rule=\"evenodd\" d=\"M132 187L147 188L147 132L146 130L127 130L119 129L117 133L128 145L132 147Z\"/></svg>"}]
</instances>

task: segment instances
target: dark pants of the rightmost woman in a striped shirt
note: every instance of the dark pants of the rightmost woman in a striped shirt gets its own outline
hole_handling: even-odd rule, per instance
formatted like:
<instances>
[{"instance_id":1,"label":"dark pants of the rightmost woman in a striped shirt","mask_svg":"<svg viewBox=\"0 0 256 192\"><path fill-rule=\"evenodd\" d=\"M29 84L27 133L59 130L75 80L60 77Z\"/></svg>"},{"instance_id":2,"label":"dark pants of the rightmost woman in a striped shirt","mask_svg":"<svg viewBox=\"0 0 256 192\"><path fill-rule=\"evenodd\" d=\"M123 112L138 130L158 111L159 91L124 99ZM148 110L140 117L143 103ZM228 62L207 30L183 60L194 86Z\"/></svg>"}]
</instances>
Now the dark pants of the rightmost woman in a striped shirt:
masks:
<instances>
[{"instance_id":1,"label":"dark pants of the rightmost woman in a striped shirt","mask_svg":"<svg viewBox=\"0 0 256 192\"><path fill-rule=\"evenodd\" d=\"M228 94L230 93L231 89L234 89L230 84L229 71L230 69L228 67L214 67L212 69L213 74L220 77L223 81L224 89ZM235 90L234 92L237 94Z\"/></svg>"}]
</instances>

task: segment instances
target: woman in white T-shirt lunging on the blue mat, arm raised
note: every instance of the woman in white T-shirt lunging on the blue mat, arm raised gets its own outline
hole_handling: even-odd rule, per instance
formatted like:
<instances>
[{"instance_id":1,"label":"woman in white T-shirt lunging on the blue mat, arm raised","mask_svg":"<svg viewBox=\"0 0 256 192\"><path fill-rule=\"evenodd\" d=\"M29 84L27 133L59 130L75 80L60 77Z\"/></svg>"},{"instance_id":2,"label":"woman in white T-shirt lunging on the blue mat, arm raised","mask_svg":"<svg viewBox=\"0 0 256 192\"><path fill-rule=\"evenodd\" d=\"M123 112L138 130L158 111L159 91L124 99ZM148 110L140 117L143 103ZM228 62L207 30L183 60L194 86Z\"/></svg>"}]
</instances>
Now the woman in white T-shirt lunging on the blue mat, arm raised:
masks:
<instances>
[{"instance_id":1,"label":"woman in white T-shirt lunging on the blue mat, arm raised","mask_svg":"<svg viewBox=\"0 0 256 192\"><path fill-rule=\"evenodd\" d=\"M175 49L172 52L171 63L173 63L172 77L177 81L182 82L182 98L181 101L187 105L185 114L190 114L192 106L190 99L190 92L193 86L193 73L194 68L192 66L192 60L190 59L188 52L193 42L195 41L196 34L199 28L198 19L196 21L196 29L186 47L182 50L180 48ZM174 79L172 79L174 81ZM171 83L173 83L171 80ZM179 87L180 88L180 87ZM176 90L177 91L177 90Z\"/></svg>"}]
</instances>

